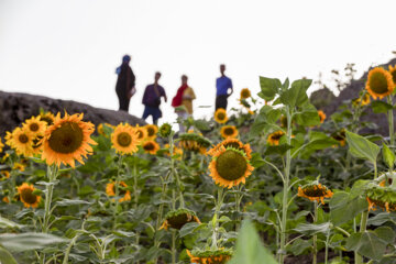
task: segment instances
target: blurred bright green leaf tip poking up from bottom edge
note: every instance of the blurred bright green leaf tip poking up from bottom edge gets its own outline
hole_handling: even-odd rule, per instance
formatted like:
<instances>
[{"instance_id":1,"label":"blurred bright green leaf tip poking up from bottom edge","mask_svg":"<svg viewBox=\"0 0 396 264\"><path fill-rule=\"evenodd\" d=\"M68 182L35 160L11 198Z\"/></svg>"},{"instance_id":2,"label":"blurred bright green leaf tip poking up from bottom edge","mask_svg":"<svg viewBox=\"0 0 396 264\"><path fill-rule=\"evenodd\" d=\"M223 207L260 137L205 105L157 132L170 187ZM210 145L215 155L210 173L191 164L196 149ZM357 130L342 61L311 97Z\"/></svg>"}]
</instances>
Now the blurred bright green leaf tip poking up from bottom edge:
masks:
<instances>
[{"instance_id":1,"label":"blurred bright green leaf tip poking up from bottom edge","mask_svg":"<svg viewBox=\"0 0 396 264\"><path fill-rule=\"evenodd\" d=\"M272 254L263 246L253 223L244 220L237 241L237 251L229 264L276 264Z\"/></svg>"}]
</instances>

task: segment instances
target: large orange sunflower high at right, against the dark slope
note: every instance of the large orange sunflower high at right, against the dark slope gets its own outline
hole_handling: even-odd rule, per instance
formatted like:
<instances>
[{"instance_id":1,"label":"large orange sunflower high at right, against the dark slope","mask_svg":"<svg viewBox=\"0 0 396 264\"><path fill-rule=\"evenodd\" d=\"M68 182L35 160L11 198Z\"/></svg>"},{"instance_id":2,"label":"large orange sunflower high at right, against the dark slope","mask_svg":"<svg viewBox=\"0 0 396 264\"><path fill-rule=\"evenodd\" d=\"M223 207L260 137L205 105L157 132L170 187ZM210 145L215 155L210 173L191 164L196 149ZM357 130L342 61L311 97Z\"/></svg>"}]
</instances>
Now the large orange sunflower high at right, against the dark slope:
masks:
<instances>
[{"instance_id":1,"label":"large orange sunflower high at right, against the dark slope","mask_svg":"<svg viewBox=\"0 0 396 264\"><path fill-rule=\"evenodd\" d=\"M383 99L393 92L395 84L389 72L376 67L369 72L365 88L374 99Z\"/></svg>"}]
</instances>

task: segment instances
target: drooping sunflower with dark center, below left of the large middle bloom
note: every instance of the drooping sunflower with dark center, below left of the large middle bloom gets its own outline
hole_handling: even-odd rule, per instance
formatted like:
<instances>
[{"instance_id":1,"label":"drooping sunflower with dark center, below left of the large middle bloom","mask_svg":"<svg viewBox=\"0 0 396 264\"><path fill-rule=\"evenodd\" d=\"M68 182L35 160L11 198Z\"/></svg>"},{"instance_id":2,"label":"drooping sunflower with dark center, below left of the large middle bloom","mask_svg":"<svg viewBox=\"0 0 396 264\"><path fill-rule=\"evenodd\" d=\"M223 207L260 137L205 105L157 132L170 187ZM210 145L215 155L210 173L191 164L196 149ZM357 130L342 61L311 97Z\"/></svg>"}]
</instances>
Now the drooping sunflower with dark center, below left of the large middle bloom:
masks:
<instances>
[{"instance_id":1,"label":"drooping sunflower with dark center, below left of the large middle bloom","mask_svg":"<svg viewBox=\"0 0 396 264\"><path fill-rule=\"evenodd\" d=\"M197 215L194 211L182 208L166 213L165 221L160 229L167 230L168 228L173 228L180 230L183 226L189 222L200 223Z\"/></svg>"}]
</instances>

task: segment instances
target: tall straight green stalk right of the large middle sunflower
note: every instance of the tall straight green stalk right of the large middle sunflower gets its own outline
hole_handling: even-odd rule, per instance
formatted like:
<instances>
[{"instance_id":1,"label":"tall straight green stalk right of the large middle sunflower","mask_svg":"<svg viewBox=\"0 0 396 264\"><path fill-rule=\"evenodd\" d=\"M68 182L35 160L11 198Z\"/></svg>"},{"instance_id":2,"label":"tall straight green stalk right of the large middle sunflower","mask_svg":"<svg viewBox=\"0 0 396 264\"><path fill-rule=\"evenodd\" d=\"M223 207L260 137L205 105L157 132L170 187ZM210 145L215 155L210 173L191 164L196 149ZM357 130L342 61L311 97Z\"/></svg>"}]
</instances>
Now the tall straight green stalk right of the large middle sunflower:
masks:
<instances>
[{"instance_id":1,"label":"tall straight green stalk right of the large middle sunflower","mask_svg":"<svg viewBox=\"0 0 396 264\"><path fill-rule=\"evenodd\" d=\"M287 144L292 143L292 110L286 107L286 117L287 117ZM286 256L286 223L287 223L287 204L288 204L288 189L289 189L289 177L290 177L290 163L292 154L290 150L286 152L286 164L284 173L284 189L283 189L283 200L282 200L282 222L280 222L280 252L279 252L279 263L283 264Z\"/></svg>"}]
</instances>

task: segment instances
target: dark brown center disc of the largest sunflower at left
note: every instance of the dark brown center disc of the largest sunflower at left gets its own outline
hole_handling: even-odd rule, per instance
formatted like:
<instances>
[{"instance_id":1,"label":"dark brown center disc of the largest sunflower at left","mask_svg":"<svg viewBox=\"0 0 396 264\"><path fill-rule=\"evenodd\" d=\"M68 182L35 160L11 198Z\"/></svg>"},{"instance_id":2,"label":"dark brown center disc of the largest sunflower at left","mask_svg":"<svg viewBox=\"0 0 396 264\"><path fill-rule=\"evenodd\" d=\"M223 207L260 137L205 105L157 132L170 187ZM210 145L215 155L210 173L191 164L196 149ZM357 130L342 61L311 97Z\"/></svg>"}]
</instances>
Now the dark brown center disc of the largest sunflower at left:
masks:
<instances>
[{"instance_id":1,"label":"dark brown center disc of the largest sunflower at left","mask_svg":"<svg viewBox=\"0 0 396 264\"><path fill-rule=\"evenodd\" d=\"M50 147L58 153L73 153L81 146L82 136L77 123L67 122L51 133Z\"/></svg>"}]
</instances>

